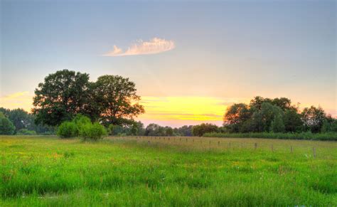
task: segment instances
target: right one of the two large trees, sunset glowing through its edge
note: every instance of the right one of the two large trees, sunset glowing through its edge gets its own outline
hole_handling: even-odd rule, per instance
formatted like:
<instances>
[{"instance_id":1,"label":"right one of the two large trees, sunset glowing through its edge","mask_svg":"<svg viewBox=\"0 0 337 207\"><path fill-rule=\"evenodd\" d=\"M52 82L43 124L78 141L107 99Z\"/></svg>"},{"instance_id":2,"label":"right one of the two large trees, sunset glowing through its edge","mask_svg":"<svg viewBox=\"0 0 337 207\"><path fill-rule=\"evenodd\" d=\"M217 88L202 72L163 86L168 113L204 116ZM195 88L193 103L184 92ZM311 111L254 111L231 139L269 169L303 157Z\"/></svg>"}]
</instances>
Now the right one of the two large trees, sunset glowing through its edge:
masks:
<instances>
[{"instance_id":1,"label":"right one of the two large trees, sunset glowing through its edge","mask_svg":"<svg viewBox=\"0 0 337 207\"><path fill-rule=\"evenodd\" d=\"M97 79L92 86L92 105L103 124L122 125L144 113L135 86L129 78L119 75L103 75Z\"/></svg>"}]
</instances>

